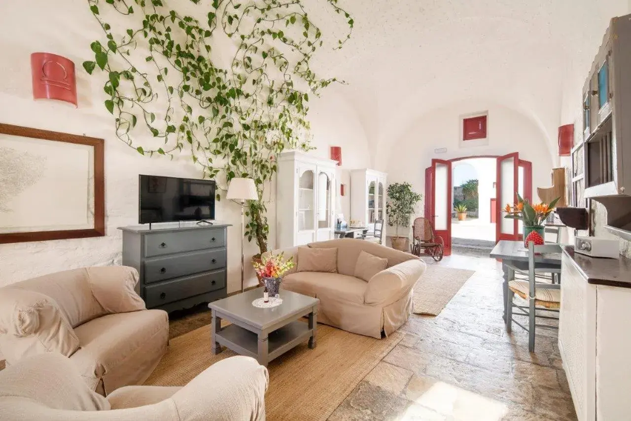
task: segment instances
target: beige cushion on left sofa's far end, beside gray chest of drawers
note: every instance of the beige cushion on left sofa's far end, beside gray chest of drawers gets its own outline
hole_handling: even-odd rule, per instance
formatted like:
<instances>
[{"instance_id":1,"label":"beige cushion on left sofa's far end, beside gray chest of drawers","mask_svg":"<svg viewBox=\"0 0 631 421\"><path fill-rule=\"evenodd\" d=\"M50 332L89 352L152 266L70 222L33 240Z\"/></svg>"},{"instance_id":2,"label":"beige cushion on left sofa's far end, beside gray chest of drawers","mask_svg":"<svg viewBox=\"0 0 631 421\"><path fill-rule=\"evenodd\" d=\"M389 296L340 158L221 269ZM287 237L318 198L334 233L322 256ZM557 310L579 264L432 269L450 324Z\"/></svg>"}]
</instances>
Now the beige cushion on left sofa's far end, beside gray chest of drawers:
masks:
<instances>
[{"instance_id":1,"label":"beige cushion on left sofa's far end, beside gray chest of drawers","mask_svg":"<svg viewBox=\"0 0 631 421\"><path fill-rule=\"evenodd\" d=\"M126 313L144 310L144 301L134 287L138 284L138 271L129 266L86 267L88 282L94 298L108 313Z\"/></svg>"}]
</instances>

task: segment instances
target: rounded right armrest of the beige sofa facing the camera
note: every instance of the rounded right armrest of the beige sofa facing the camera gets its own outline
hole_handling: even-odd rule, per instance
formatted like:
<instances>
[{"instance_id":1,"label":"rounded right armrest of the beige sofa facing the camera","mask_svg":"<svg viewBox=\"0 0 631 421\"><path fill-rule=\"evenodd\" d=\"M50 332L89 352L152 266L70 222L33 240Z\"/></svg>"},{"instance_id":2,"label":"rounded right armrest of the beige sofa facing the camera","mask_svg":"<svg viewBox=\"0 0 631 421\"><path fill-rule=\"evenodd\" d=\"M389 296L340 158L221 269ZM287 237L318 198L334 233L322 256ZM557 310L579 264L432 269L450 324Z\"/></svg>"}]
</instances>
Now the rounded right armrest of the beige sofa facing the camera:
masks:
<instances>
[{"instance_id":1,"label":"rounded right armrest of the beige sofa facing the camera","mask_svg":"<svg viewBox=\"0 0 631 421\"><path fill-rule=\"evenodd\" d=\"M395 302L416 284L426 268L423 260L411 259L384 269L370 278L364 302L368 305Z\"/></svg>"}]
</instances>

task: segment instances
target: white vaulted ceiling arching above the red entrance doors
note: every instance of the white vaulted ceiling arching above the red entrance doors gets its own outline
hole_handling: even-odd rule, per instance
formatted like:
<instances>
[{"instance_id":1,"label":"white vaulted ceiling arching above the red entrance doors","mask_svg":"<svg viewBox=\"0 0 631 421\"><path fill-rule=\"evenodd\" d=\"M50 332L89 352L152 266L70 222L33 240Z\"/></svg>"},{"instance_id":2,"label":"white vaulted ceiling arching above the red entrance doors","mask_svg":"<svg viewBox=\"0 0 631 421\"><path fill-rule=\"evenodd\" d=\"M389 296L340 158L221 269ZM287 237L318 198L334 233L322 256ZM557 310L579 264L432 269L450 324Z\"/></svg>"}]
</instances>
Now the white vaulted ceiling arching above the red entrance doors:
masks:
<instances>
[{"instance_id":1,"label":"white vaulted ceiling arching above the red entrance doors","mask_svg":"<svg viewBox=\"0 0 631 421\"><path fill-rule=\"evenodd\" d=\"M319 1L309 1L312 13L334 32L339 20ZM420 116L470 99L523 114L553 150L557 127L567 123L561 121L564 97L569 101L564 91L580 89L609 19L631 9L629 0L339 4L353 15L353 37L341 51L323 49L317 70L348 83L334 90L360 116L373 164Z\"/></svg>"}]
</instances>

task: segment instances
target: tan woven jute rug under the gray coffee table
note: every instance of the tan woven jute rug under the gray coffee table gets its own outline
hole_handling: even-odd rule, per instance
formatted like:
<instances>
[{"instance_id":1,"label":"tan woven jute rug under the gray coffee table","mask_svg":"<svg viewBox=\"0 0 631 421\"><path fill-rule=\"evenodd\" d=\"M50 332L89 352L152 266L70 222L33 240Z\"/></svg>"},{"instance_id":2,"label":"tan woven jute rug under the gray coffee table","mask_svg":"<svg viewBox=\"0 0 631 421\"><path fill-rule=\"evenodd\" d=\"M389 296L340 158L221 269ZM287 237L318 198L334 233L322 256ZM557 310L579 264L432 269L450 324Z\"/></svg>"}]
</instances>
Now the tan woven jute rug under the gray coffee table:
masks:
<instances>
[{"instance_id":1,"label":"tan woven jute rug under the gray coffee table","mask_svg":"<svg viewBox=\"0 0 631 421\"><path fill-rule=\"evenodd\" d=\"M375 339L319 324L314 350L305 341L269 363L268 420L326 420L403 336L395 332ZM210 343L209 326L171 339L145 384L184 386L213 363L236 355L228 349L212 355Z\"/></svg>"}]
</instances>

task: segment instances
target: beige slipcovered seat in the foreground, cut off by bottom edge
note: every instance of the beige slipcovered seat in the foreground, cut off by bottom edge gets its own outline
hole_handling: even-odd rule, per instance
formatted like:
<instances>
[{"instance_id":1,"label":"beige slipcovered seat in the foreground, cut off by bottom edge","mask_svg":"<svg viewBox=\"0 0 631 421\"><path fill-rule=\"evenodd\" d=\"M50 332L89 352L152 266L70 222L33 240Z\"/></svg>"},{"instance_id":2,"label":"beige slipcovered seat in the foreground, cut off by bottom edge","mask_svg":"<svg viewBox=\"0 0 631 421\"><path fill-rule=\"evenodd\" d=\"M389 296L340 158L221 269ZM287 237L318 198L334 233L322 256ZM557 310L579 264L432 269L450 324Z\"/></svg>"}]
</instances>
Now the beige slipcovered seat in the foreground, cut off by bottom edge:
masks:
<instances>
[{"instance_id":1,"label":"beige slipcovered seat in the foreground, cut off by bottom edge","mask_svg":"<svg viewBox=\"0 0 631 421\"><path fill-rule=\"evenodd\" d=\"M0 420L264 420L268 371L249 357L208 367L184 387L126 386L93 392L68 358L28 357L0 372Z\"/></svg>"}]
</instances>

